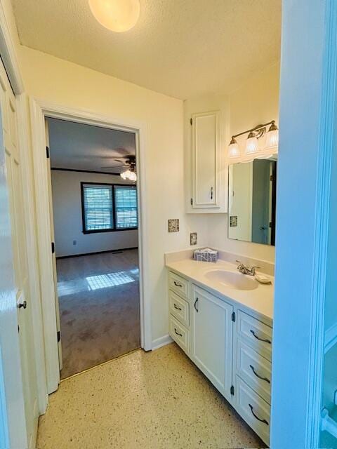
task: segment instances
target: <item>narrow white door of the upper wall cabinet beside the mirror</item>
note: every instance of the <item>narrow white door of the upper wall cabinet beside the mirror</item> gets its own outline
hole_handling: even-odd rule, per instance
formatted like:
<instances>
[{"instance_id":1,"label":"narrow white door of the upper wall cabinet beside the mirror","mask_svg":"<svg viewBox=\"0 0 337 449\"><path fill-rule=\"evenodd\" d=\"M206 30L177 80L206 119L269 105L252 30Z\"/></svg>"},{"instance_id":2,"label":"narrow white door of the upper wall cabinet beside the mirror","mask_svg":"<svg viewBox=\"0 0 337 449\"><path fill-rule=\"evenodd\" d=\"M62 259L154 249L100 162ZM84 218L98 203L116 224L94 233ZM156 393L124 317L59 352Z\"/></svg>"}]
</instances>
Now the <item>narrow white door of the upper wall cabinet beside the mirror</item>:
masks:
<instances>
[{"instance_id":1,"label":"narrow white door of the upper wall cabinet beside the mirror","mask_svg":"<svg viewBox=\"0 0 337 449\"><path fill-rule=\"evenodd\" d=\"M219 112L192 115L192 207L216 208L220 163Z\"/></svg>"}]
</instances>

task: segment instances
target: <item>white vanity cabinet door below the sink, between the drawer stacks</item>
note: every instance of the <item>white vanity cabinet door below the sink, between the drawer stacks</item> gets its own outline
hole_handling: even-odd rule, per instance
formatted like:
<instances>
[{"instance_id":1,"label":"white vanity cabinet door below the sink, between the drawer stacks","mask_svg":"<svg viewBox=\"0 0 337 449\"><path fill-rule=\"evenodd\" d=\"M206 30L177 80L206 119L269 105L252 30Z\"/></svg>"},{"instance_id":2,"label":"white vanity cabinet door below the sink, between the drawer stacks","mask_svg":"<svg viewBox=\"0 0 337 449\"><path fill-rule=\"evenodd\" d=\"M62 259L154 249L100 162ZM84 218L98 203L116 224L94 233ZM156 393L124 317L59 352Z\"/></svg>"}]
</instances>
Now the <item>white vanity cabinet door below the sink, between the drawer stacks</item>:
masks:
<instances>
[{"instance_id":1,"label":"white vanity cabinet door below the sink, between the drawer stacks","mask_svg":"<svg viewBox=\"0 0 337 449\"><path fill-rule=\"evenodd\" d=\"M192 358L227 398L232 385L233 307L193 286Z\"/></svg>"}]
</instances>

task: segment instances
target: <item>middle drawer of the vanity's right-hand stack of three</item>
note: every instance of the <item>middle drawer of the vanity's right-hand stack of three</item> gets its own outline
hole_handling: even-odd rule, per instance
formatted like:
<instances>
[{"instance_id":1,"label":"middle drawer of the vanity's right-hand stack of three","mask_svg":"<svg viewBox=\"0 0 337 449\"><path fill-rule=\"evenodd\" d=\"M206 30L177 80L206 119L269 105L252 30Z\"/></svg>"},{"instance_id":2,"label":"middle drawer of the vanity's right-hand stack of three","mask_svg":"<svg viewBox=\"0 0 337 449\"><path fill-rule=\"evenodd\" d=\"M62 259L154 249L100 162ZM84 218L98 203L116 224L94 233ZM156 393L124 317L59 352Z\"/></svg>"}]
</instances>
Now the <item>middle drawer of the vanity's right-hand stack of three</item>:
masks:
<instances>
[{"instance_id":1,"label":"middle drawer of the vanity's right-hand stack of three","mask_svg":"<svg viewBox=\"0 0 337 449\"><path fill-rule=\"evenodd\" d=\"M272 364L239 338L237 339L237 374L267 403L270 403Z\"/></svg>"}]
</instances>

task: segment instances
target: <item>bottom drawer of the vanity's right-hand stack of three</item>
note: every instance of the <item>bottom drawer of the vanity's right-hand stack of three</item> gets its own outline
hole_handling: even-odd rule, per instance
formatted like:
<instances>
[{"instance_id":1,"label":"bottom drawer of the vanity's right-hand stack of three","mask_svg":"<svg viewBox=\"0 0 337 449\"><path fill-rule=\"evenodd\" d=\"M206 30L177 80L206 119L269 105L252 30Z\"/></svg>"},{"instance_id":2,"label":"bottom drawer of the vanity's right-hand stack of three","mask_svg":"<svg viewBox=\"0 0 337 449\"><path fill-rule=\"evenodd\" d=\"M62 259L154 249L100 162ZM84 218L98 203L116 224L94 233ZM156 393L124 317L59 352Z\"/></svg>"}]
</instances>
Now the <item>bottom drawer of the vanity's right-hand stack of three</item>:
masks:
<instances>
[{"instance_id":1,"label":"bottom drawer of the vanity's right-hand stack of three","mask_svg":"<svg viewBox=\"0 0 337 449\"><path fill-rule=\"evenodd\" d=\"M237 376L237 412L253 431L269 445L270 406Z\"/></svg>"}]
</instances>

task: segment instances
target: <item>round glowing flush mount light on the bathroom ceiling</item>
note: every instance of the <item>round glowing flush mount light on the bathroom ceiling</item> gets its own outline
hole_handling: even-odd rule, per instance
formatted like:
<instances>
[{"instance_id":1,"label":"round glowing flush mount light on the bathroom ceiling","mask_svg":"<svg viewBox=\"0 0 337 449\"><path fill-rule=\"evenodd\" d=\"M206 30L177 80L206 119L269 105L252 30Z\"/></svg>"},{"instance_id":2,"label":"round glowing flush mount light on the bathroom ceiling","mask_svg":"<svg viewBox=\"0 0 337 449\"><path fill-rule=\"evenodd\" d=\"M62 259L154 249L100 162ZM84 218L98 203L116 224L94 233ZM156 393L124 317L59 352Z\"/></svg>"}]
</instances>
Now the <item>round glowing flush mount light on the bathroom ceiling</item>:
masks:
<instances>
[{"instance_id":1,"label":"round glowing flush mount light on the bathroom ceiling","mask_svg":"<svg viewBox=\"0 0 337 449\"><path fill-rule=\"evenodd\" d=\"M139 0L89 0L89 6L103 27L117 33L134 27L140 13Z\"/></svg>"}]
</instances>

